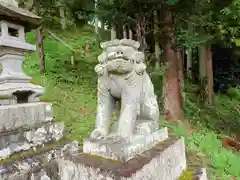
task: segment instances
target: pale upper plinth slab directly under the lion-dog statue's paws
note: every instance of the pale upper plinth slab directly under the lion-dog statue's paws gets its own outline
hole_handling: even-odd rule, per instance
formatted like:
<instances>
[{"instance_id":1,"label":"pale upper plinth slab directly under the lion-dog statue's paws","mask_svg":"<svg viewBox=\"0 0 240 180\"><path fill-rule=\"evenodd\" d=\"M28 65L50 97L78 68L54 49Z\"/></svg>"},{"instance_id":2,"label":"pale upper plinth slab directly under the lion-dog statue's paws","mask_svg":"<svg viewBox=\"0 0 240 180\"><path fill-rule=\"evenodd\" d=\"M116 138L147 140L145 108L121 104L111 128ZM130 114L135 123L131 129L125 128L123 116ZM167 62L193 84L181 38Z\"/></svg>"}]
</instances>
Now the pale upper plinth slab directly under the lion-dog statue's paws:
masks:
<instances>
[{"instance_id":1,"label":"pale upper plinth slab directly under the lion-dog statue's paws","mask_svg":"<svg viewBox=\"0 0 240 180\"><path fill-rule=\"evenodd\" d=\"M105 140L85 139L83 152L115 160L127 161L167 138L168 130L167 128L162 128L151 134L134 135L128 139L123 139L115 135L110 135Z\"/></svg>"}]
</instances>

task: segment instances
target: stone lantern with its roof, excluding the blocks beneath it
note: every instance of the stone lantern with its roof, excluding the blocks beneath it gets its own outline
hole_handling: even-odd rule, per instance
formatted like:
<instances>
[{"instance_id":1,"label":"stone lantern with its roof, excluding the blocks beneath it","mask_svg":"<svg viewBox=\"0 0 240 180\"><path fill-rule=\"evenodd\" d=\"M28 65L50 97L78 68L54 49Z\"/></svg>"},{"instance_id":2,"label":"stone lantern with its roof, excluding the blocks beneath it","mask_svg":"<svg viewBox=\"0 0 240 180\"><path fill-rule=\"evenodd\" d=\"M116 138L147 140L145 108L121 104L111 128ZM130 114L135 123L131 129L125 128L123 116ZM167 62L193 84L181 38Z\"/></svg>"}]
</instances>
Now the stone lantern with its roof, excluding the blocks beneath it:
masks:
<instances>
[{"instance_id":1,"label":"stone lantern with its roof, excluding the blocks beneath it","mask_svg":"<svg viewBox=\"0 0 240 180\"><path fill-rule=\"evenodd\" d=\"M36 50L25 33L37 28L41 18L18 7L15 0L0 0L0 105L39 101L44 88L29 82L22 70L24 53Z\"/></svg>"}]
</instances>

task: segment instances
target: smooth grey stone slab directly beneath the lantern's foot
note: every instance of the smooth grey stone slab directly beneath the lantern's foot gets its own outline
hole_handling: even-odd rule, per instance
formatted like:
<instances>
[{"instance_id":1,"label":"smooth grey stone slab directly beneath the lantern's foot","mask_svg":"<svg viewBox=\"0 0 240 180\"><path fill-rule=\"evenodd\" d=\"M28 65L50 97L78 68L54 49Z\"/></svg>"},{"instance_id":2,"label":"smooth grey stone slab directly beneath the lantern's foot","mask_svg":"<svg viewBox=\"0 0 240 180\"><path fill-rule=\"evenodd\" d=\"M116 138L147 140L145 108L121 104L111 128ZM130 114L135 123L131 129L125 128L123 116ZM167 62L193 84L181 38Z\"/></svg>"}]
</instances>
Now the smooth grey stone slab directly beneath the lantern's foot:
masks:
<instances>
[{"instance_id":1,"label":"smooth grey stone slab directly beneath the lantern's foot","mask_svg":"<svg viewBox=\"0 0 240 180\"><path fill-rule=\"evenodd\" d=\"M0 106L0 133L52 121L52 104L45 102Z\"/></svg>"}]
</instances>

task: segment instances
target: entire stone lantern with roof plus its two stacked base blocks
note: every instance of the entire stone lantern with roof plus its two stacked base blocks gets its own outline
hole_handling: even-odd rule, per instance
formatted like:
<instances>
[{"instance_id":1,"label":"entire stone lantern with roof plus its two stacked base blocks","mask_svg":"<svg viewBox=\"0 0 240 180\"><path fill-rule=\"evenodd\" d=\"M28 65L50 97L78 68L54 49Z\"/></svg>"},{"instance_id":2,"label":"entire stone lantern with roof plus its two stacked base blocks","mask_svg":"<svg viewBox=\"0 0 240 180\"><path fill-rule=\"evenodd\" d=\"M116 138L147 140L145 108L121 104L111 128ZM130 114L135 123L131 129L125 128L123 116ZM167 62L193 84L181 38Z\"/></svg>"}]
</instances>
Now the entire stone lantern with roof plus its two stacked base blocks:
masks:
<instances>
[{"instance_id":1,"label":"entire stone lantern with roof plus its two stacked base blocks","mask_svg":"<svg viewBox=\"0 0 240 180\"><path fill-rule=\"evenodd\" d=\"M15 0L0 0L0 16L1 160L60 140L64 124L52 121L52 104L39 99L44 88L30 83L31 77L22 69L24 54L36 50L35 45L26 42L25 33L39 27L41 18L19 8ZM0 179L25 179L4 172L8 170L0 166Z\"/></svg>"}]
</instances>

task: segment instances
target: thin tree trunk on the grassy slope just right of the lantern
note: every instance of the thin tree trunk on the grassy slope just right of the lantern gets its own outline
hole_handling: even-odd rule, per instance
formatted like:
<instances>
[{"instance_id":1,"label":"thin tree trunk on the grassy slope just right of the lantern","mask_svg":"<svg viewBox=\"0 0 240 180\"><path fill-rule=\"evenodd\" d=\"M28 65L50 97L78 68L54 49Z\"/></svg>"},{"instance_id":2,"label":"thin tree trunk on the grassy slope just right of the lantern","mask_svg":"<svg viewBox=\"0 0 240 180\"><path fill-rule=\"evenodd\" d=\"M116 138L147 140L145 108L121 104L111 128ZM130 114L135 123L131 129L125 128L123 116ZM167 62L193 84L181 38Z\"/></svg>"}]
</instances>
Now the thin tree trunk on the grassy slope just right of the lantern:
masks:
<instances>
[{"instance_id":1,"label":"thin tree trunk on the grassy slope just right of the lantern","mask_svg":"<svg viewBox=\"0 0 240 180\"><path fill-rule=\"evenodd\" d=\"M40 56L39 68L40 73L45 72L45 56L44 56L44 43L43 43L43 30L42 26L38 27L36 30L37 41L38 41L38 53Z\"/></svg>"}]
</instances>

